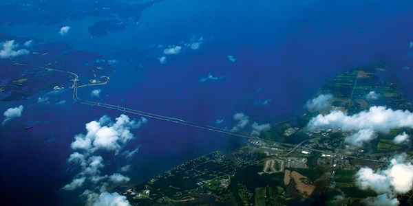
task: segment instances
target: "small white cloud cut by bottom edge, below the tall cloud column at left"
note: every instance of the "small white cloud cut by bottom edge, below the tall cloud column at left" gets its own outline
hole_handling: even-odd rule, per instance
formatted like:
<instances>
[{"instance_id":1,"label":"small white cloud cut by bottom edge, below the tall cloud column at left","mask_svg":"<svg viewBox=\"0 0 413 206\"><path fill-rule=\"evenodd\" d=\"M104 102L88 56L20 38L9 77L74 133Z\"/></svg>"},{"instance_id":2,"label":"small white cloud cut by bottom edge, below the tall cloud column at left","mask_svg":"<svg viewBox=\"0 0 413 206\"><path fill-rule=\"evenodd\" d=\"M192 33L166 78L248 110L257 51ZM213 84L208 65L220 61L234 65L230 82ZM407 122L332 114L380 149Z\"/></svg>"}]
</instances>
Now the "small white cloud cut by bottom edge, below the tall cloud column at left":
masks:
<instances>
[{"instance_id":1,"label":"small white cloud cut by bottom edge, below the tall cloud column at left","mask_svg":"<svg viewBox=\"0 0 413 206\"><path fill-rule=\"evenodd\" d=\"M92 197L97 196L97 194L94 195L89 195ZM93 198L92 198L93 199ZM117 192L114 193L108 193L108 192L103 192L100 194L97 198L94 198L94 200L89 199L89 205L93 206L129 206L129 201L127 201L126 196L122 196L118 194Z\"/></svg>"}]
</instances>

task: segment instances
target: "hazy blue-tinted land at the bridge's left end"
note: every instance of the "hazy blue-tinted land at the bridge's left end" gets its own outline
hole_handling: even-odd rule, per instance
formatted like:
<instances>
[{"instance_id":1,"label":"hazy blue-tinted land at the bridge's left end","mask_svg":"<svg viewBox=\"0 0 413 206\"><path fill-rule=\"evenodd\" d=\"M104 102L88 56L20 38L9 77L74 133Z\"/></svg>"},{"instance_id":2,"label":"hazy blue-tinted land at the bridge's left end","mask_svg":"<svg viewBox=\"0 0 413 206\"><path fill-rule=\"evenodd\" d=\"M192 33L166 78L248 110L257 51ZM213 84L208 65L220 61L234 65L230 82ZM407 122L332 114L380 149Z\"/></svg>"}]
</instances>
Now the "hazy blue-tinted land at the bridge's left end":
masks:
<instances>
[{"instance_id":1,"label":"hazy blue-tinted land at the bridge's left end","mask_svg":"<svg viewBox=\"0 0 413 206\"><path fill-rule=\"evenodd\" d=\"M29 38L0 34L0 42L14 40L23 44ZM0 58L0 101L24 100L40 91L69 88L74 77L52 69L78 73L78 85L102 84L114 71L115 60L76 49L64 43L41 43L36 40L31 54ZM35 62L35 63L34 63Z\"/></svg>"}]
</instances>

